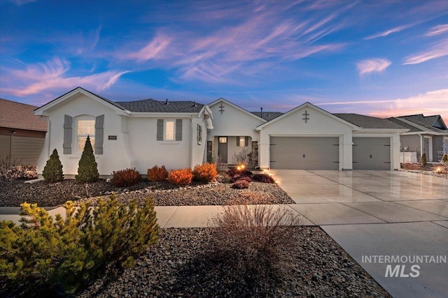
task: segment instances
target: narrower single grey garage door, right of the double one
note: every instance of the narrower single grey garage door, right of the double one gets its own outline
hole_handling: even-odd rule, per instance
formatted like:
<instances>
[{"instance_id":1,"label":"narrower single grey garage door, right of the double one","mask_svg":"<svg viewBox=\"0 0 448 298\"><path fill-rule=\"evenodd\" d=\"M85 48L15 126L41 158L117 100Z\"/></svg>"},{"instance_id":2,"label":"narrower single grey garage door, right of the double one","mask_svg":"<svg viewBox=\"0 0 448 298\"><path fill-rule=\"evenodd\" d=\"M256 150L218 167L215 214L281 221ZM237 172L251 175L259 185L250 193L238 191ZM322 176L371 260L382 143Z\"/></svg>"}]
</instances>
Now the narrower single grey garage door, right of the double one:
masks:
<instances>
[{"instance_id":1,"label":"narrower single grey garage door, right of the double one","mask_svg":"<svg viewBox=\"0 0 448 298\"><path fill-rule=\"evenodd\" d=\"M353 137L353 170L391 170L391 140Z\"/></svg>"}]
</instances>

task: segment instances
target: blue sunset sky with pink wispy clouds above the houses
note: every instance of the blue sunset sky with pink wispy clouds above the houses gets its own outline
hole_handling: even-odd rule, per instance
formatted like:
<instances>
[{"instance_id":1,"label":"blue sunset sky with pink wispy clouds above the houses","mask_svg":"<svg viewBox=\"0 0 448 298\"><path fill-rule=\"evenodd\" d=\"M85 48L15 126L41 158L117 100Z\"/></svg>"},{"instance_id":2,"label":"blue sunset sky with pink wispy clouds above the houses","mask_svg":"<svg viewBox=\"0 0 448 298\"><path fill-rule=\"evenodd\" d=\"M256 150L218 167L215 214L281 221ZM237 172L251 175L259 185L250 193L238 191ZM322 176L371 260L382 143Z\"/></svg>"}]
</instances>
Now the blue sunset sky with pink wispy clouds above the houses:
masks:
<instances>
[{"instance_id":1,"label":"blue sunset sky with pink wispy clouds above the houses","mask_svg":"<svg viewBox=\"0 0 448 298\"><path fill-rule=\"evenodd\" d=\"M448 124L448 1L0 1L0 98L309 102Z\"/></svg>"}]
</instances>

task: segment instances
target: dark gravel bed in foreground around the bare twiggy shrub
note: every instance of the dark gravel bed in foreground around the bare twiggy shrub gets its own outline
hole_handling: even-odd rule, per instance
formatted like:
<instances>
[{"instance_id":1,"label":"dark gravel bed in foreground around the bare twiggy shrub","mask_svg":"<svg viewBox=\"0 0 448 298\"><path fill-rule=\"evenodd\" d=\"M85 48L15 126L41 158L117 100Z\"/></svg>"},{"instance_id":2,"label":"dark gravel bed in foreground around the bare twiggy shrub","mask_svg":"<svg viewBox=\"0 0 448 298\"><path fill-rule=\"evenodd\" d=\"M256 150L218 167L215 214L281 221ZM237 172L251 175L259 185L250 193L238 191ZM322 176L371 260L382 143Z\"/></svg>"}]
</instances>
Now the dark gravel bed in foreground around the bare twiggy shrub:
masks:
<instances>
[{"instance_id":1,"label":"dark gravel bed in foreground around the bare twiggy shrub","mask_svg":"<svg viewBox=\"0 0 448 298\"><path fill-rule=\"evenodd\" d=\"M291 228L288 272L265 283L267 292L211 261L211 228L169 228L135 267L100 278L78 297L391 297L323 230Z\"/></svg>"}]
</instances>

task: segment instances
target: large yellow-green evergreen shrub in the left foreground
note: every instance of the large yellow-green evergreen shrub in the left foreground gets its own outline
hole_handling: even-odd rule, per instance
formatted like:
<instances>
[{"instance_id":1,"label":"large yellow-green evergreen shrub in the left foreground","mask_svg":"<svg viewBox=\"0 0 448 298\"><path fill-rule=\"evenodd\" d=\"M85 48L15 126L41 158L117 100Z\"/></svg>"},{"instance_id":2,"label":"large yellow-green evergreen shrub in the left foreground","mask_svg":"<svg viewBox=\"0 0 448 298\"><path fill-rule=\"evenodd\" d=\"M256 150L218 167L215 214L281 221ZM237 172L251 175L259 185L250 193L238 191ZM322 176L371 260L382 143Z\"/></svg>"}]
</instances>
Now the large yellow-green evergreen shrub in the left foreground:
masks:
<instances>
[{"instance_id":1,"label":"large yellow-green evergreen shrub in the left foreground","mask_svg":"<svg viewBox=\"0 0 448 298\"><path fill-rule=\"evenodd\" d=\"M22 204L20 227L0 222L0 294L24 297L69 295L106 268L132 267L134 258L158 239L152 200L143 207L115 196L93 210L66 202L66 219L53 221L36 204ZM2 294L2 295L3 295Z\"/></svg>"}]
</instances>

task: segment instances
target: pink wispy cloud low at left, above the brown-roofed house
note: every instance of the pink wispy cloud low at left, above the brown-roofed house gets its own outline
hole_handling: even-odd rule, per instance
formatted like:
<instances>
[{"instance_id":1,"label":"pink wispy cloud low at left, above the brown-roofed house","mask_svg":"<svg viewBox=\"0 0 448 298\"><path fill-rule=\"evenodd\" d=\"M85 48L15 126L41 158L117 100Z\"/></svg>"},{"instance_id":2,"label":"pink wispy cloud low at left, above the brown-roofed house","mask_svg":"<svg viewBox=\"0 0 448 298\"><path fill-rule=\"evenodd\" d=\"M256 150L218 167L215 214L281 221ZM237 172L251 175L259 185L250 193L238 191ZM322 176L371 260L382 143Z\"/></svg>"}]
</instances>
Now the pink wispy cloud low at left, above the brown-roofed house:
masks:
<instances>
[{"instance_id":1,"label":"pink wispy cloud low at left, above the brown-roofed house","mask_svg":"<svg viewBox=\"0 0 448 298\"><path fill-rule=\"evenodd\" d=\"M13 96L29 96L43 91L66 91L77 86L83 86L95 91L109 89L125 73L129 71L109 70L87 76L68 76L69 62L54 58L46 64L27 66L25 70L10 70L16 86L0 88L0 91Z\"/></svg>"}]
</instances>

